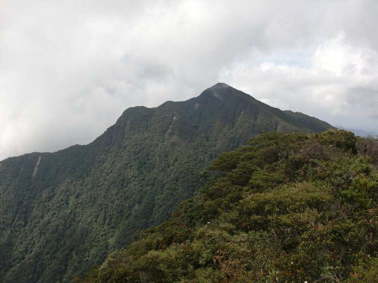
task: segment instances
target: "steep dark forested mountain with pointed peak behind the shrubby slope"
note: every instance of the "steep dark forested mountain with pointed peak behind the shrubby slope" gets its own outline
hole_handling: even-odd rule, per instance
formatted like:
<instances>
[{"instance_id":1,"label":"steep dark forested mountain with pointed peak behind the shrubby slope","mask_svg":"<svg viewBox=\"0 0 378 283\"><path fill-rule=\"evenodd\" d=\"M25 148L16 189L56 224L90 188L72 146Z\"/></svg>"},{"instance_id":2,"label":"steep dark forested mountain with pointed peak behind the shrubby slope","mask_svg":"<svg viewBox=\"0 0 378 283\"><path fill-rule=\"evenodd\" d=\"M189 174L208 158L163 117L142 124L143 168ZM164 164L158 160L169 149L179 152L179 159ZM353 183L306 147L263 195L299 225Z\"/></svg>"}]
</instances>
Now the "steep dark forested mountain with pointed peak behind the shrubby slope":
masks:
<instances>
[{"instance_id":1,"label":"steep dark forested mountain with pointed peak behind the shrubby slope","mask_svg":"<svg viewBox=\"0 0 378 283\"><path fill-rule=\"evenodd\" d=\"M0 281L67 282L168 218L196 172L261 131L332 126L226 84L132 107L92 143L0 162Z\"/></svg>"}]
</instances>

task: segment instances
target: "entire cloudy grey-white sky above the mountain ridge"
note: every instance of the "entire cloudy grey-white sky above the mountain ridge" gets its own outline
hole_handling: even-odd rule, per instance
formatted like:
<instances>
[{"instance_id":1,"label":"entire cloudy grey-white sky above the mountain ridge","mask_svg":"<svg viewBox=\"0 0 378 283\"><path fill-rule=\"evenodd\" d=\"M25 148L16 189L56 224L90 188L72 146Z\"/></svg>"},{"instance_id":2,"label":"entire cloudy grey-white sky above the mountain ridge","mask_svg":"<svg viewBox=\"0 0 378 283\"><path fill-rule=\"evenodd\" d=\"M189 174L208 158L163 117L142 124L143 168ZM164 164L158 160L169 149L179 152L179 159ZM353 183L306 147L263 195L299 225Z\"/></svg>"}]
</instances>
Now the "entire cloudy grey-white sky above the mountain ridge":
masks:
<instances>
[{"instance_id":1,"label":"entire cloudy grey-white sky above the mountain ridge","mask_svg":"<svg viewBox=\"0 0 378 283\"><path fill-rule=\"evenodd\" d=\"M378 1L0 0L0 160L227 83L378 131Z\"/></svg>"}]
</instances>

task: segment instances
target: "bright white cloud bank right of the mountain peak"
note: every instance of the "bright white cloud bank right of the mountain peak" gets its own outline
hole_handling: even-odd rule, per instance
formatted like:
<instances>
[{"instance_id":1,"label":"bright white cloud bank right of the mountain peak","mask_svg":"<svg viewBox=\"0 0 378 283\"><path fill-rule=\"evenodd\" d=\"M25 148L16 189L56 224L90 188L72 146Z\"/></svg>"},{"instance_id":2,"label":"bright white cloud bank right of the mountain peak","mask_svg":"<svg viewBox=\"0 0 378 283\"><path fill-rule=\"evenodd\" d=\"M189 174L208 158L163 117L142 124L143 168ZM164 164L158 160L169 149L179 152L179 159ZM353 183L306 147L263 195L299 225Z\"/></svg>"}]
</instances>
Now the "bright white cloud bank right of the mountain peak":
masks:
<instances>
[{"instance_id":1,"label":"bright white cloud bank right of the mountain peak","mask_svg":"<svg viewBox=\"0 0 378 283\"><path fill-rule=\"evenodd\" d=\"M272 106L334 124L375 127L378 118L378 53L351 46L343 33L320 44L308 66L251 60L225 68L221 79Z\"/></svg>"}]
</instances>

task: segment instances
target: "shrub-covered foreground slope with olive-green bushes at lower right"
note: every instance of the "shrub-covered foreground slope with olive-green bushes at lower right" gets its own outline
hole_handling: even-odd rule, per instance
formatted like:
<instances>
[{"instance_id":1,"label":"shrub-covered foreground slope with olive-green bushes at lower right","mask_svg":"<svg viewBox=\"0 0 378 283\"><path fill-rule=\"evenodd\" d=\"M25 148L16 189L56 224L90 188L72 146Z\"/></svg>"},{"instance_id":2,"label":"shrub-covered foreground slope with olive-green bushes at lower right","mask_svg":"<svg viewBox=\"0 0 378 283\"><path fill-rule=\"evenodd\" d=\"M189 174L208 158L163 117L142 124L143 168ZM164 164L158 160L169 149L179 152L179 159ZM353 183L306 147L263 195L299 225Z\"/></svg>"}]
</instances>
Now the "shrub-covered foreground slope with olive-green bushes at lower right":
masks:
<instances>
[{"instance_id":1,"label":"shrub-covered foreground slope with olive-green bushes at lower right","mask_svg":"<svg viewBox=\"0 0 378 283\"><path fill-rule=\"evenodd\" d=\"M377 282L378 141L264 133L77 283ZM356 149L357 148L357 149ZM210 174L212 173L212 174Z\"/></svg>"}]
</instances>

